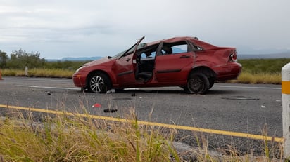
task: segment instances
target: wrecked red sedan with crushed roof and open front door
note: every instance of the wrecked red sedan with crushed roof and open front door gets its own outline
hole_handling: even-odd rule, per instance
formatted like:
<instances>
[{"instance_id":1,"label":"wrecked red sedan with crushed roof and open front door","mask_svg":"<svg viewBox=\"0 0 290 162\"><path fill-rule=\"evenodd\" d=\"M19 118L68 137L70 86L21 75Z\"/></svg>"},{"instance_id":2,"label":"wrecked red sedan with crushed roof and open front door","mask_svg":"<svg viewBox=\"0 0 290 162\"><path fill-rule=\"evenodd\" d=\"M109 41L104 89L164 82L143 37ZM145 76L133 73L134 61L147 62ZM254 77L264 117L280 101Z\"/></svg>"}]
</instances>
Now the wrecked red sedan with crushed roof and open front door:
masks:
<instances>
[{"instance_id":1,"label":"wrecked red sedan with crushed roof and open front door","mask_svg":"<svg viewBox=\"0 0 290 162\"><path fill-rule=\"evenodd\" d=\"M141 43L113 57L82 65L75 86L94 93L111 88L180 86L187 93L206 93L215 81L237 79L241 64L236 48L217 47L196 37Z\"/></svg>"}]
</instances>

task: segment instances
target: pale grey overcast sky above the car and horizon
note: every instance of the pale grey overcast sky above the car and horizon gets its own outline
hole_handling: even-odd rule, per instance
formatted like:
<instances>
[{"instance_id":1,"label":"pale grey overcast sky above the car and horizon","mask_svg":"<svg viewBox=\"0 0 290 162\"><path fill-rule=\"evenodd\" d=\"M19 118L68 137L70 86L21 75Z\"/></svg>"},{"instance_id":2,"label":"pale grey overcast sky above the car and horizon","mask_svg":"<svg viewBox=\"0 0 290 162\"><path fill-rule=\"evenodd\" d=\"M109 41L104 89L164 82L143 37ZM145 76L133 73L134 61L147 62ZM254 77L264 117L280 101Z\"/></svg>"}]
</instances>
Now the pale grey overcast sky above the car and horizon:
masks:
<instances>
[{"instance_id":1,"label":"pale grey overcast sky above the car and horizon","mask_svg":"<svg viewBox=\"0 0 290 162\"><path fill-rule=\"evenodd\" d=\"M143 42L197 36L238 53L290 50L289 0L0 0L0 50L41 58L115 55Z\"/></svg>"}]
</instances>

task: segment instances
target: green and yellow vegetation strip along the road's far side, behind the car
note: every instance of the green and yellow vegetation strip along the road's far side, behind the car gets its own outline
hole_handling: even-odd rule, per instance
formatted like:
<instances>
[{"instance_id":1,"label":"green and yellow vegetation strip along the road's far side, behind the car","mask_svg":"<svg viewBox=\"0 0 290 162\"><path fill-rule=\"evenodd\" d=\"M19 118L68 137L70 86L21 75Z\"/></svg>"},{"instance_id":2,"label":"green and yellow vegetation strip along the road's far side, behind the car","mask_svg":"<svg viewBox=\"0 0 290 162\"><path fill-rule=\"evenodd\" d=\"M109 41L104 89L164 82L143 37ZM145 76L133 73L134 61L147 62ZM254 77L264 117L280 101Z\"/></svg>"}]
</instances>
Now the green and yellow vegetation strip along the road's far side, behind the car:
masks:
<instances>
[{"instance_id":1,"label":"green and yellow vegetation strip along the road's far side, behind the car","mask_svg":"<svg viewBox=\"0 0 290 162\"><path fill-rule=\"evenodd\" d=\"M0 50L2 76L25 76L25 67L28 67L30 77L71 78L80 65L89 61L47 61L39 58L39 53L26 53L21 49L11 53L9 58ZM280 84L281 69L288 62L290 58L239 60L243 66L241 75L228 82Z\"/></svg>"}]
</instances>

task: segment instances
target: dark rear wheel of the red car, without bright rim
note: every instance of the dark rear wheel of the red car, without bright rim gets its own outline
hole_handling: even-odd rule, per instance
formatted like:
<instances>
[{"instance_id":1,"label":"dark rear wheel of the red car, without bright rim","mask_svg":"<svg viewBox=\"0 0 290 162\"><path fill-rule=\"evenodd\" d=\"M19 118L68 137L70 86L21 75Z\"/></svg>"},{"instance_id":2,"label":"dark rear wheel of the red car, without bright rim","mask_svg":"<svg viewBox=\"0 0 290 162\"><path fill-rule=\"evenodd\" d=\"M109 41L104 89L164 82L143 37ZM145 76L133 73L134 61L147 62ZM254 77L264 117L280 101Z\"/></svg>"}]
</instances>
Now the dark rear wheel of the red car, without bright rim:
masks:
<instances>
[{"instance_id":1,"label":"dark rear wheel of the red car, without bright rim","mask_svg":"<svg viewBox=\"0 0 290 162\"><path fill-rule=\"evenodd\" d=\"M187 86L184 86L184 90L187 93L192 94L203 94L208 91L210 82L208 77L202 73L191 73L187 80Z\"/></svg>"}]
</instances>

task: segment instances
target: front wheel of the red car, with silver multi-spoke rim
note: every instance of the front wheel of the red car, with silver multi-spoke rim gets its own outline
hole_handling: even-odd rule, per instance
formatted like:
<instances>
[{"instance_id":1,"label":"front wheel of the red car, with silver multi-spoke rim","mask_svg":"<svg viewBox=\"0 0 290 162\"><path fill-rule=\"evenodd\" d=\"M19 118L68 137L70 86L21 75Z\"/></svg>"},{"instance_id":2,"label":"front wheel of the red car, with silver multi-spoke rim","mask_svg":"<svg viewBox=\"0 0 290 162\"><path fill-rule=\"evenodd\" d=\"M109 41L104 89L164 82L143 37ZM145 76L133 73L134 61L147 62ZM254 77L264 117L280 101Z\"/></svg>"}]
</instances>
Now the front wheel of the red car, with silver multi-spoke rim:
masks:
<instances>
[{"instance_id":1,"label":"front wheel of the red car, with silver multi-spoke rim","mask_svg":"<svg viewBox=\"0 0 290 162\"><path fill-rule=\"evenodd\" d=\"M89 76L87 88L93 93L106 93L111 90L111 81L101 72L96 72Z\"/></svg>"}]
</instances>

